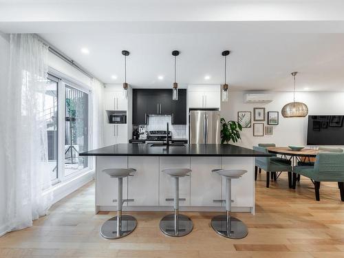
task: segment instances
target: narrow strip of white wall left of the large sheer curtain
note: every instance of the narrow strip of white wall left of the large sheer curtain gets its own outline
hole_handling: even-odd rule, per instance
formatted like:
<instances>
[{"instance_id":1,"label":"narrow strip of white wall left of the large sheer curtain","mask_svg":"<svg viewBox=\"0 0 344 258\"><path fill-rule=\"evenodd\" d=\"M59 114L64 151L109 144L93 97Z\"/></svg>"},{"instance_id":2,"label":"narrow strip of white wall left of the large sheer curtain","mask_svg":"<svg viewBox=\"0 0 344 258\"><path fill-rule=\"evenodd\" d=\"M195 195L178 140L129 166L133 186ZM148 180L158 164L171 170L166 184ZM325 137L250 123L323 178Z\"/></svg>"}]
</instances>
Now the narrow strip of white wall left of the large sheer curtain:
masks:
<instances>
[{"instance_id":1,"label":"narrow strip of white wall left of the large sheer curtain","mask_svg":"<svg viewBox=\"0 0 344 258\"><path fill-rule=\"evenodd\" d=\"M8 67L10 65L10 35L2 34L0 32L0 94L3 94L3 89L8 83ZM3 102L2 102L3 103ZM1 104L0 104L1 108ZM2 108L1 108L2 109ZM1 114L1 110L0 110ZM2 166L4 164L3 157L5 155L3 150L3 138L0 136L0 235L4 231L4 228L1 228L1 225L5 224L5 211L6 211L6 195L5 195L5 171L6 169Z\"/></svg>"}]
</instances>

